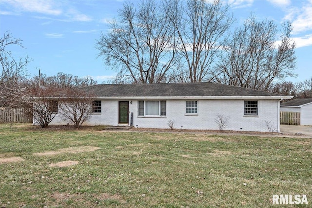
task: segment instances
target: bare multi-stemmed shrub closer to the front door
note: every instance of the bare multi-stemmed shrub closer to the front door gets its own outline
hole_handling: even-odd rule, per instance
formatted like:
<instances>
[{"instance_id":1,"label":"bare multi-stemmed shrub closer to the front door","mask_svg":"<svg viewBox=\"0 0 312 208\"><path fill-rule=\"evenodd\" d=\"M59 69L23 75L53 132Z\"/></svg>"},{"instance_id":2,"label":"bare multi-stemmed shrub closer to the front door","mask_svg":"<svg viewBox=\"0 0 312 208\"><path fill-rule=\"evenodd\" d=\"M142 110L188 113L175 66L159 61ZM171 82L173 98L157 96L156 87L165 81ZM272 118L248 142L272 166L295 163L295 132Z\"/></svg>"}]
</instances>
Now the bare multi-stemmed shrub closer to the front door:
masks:
<instances>
[{"instance_id":1,"label":"bare multi-stemmed shrub closer to the front door","mask_svg":"<svg viewBox=\"0 0 312 208\"><path fill-rule=\"evenodd\" d=\"M60 117L79 128L92 113L92 97L79 89L67 89L65 99L60 102Z\"/></svg>"}]
</instances>

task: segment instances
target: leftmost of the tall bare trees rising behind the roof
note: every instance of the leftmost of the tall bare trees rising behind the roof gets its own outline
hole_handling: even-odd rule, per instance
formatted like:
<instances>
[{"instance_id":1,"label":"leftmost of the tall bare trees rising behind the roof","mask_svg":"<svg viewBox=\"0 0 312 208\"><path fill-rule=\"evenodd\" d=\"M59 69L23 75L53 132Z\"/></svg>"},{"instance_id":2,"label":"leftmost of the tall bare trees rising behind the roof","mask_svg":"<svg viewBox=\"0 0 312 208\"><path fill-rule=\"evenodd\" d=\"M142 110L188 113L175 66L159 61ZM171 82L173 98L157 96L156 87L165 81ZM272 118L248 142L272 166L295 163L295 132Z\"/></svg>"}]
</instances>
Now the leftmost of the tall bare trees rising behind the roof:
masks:
<instances>
[{"instance_id":1,"label":"leftmost of the tall bare trees rising behind the roof","mask_svg":"<svg viewBox=\"0 0 312 208\"><path fill-rule=\"evenodd\" d=\"M142 0L137 10L124 4L119 22L96 42L98 57L117 71L117 82L160 83L179 61L172 12L161 1Z\"/></svg>"}]
</instances>

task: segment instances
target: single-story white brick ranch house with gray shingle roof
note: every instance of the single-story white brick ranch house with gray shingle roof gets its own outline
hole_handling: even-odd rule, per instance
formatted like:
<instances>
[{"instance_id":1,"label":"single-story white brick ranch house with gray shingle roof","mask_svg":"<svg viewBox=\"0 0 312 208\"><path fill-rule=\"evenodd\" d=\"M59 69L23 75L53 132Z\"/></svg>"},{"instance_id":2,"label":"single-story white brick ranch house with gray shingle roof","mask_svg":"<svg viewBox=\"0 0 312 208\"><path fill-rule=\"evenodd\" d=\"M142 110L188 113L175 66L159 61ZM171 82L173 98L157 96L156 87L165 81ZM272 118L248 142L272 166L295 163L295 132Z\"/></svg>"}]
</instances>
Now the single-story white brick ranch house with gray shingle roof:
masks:
<instances>
[{"instance_id":1,"label":"single-story white brick ranch house with gray shingle roof","mask_svg":"<svg viewBox=\"0 0 312 208\"><path fill-rule=\"evenodd\" d=\"M81 88L94 95L92 115L83 125L218 130L218 115L229 117L224 130L279 132L280 101L292 96L217 83L99 84ZM51 125L65 125L58 115Z\"/></svg>"}]
</instances>

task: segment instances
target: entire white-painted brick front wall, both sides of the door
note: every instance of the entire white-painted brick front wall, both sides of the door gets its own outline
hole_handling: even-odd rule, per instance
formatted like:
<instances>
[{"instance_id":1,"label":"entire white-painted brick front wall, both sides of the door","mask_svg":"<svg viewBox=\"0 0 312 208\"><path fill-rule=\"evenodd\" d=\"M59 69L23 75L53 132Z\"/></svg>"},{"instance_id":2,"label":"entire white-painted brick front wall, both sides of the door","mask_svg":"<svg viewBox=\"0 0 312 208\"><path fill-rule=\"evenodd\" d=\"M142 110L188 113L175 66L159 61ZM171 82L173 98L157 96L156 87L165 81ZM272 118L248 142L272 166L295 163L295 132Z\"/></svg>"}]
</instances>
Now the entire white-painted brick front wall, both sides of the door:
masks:
<instances>
[{"instance_id":1,"label":"entire white-painted brick front wall, both sides of the door","mask_svg":"<svg viewBox=\"0 0 312 208\"><path fill-rule=\"evenodd\" d=\"M132 104L130 103L132 101ZM218 130L215 122L218 114L229 116L224 130L268 132L265 121L271 121L275 131L279 131L279 100L259 100L258 116L244 116L244 100L197 100L198 114L186 115L185 100L166 100L166 117L139 117L138 100L129 100L129 112L133 112L136 127L165 128L174 120L174 128ZM68 121L55 118L51 125L65 125ZM130 115L129 115L130 123ZM92 114L83 125L118 125L118 100L102 100L102 113Z\"/></svg>"}]
</instances>

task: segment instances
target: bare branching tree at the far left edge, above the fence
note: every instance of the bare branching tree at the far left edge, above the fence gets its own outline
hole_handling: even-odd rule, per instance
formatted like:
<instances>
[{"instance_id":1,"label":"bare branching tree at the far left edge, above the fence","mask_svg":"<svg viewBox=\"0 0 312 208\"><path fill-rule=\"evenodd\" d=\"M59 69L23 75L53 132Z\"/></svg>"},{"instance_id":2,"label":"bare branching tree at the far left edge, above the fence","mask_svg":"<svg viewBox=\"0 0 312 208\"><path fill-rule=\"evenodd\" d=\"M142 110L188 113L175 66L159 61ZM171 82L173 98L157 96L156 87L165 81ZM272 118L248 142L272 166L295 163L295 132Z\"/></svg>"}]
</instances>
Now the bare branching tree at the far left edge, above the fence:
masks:
<instances>
[{"instance_id":1,"label":"bare branching tree at the far left edge, above the fence","mask_svg":"<svg viewBox=\"0 0 312 208\"><path fill-rule=\"evenodd\" d=\"M30 58L13 57L6 48L17 45L23 47L21 40L13 38L10 33L5 33L0 38L0 106L15 106L24 96L27 88L23 80L27 76L26 66Z\"/></svg>"}]
</instances>

